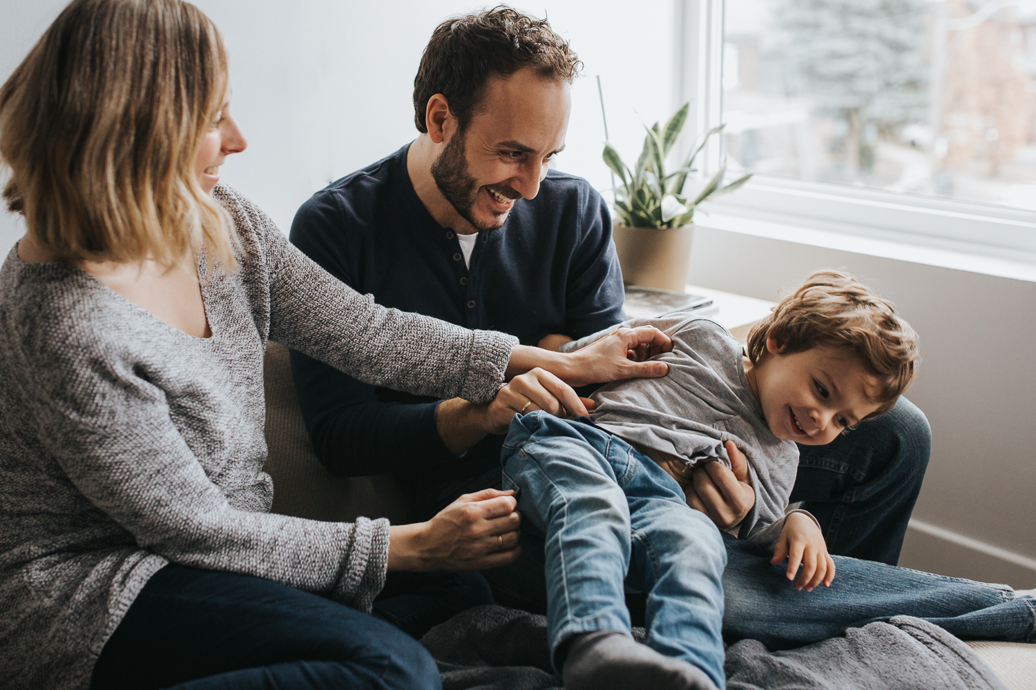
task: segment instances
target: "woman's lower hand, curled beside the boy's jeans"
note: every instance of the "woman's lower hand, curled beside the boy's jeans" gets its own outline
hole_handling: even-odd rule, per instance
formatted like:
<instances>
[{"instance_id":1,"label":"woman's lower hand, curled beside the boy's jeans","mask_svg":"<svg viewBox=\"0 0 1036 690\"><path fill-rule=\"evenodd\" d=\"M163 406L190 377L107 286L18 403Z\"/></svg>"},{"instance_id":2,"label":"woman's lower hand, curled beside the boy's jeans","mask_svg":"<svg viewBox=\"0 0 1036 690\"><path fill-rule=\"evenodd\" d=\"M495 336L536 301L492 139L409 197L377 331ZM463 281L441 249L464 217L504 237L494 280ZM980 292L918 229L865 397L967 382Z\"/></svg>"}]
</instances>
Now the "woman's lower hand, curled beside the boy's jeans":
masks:
<instances>
[{"instance_id":1,"label":"woman's lower hand, curled beside the boy's jeans","mask_svg":"<svg viewBox=\"0 0 1036 690\"><path fill-rule=\"evenodd\" d=\"M388 570L485 570L518 559L514 491L465 493L427 522L390 528Z\"/></svg>"}]
</instances>

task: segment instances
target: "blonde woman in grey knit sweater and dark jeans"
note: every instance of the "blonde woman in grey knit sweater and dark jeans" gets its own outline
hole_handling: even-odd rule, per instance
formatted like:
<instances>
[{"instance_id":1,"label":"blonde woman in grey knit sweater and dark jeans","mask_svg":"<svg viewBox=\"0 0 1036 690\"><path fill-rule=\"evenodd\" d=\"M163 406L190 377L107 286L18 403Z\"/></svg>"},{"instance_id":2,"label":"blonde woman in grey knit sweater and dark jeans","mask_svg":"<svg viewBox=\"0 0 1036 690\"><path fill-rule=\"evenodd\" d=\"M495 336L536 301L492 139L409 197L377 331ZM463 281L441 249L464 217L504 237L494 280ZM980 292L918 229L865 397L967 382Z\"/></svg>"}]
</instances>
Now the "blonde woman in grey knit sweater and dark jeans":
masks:
<instances>
[{"instance_id":1,"label":"blonde woman in grey knit sweater and dark jeans","mask_svg":"<svg viewBox=\"0 0 1036 690\"><path fill-rule=\"evenodd\" d=\"M270 514L268 339L503 427L585 413L563 381L664 373L627 358L666 347L654 329L558 355L350 291L219 184L246 147L228 94L219 32L179 0L75 0L0 89L27 228L0 269L0 687L438 687L364 611L386 571L511 563L515 500Z\"/></svg>"}]
</instances>

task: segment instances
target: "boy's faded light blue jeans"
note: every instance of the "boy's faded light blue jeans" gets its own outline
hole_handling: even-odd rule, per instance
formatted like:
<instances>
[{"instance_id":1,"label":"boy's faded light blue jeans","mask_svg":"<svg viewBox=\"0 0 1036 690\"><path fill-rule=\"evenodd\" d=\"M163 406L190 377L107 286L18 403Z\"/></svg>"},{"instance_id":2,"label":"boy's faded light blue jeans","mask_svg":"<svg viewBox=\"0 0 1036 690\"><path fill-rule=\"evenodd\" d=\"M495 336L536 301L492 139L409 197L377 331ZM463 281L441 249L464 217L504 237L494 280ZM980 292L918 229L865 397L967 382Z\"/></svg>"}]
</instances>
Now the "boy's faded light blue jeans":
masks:
<instances>
[{"instance_id":1,"label":"boy's faded light blue jeans","mask_svg":"<svg viewBox=\"0 0 1036 690\"><path fill-rule=\"evenodd\" d=\"M672 477L630 444L543 412L518 415L501 455L523 531L545 536L551 656L573 636L630 633L625 581L648 594L648 644L722 688L726 550Z\"/></svg>"}]
</instances>

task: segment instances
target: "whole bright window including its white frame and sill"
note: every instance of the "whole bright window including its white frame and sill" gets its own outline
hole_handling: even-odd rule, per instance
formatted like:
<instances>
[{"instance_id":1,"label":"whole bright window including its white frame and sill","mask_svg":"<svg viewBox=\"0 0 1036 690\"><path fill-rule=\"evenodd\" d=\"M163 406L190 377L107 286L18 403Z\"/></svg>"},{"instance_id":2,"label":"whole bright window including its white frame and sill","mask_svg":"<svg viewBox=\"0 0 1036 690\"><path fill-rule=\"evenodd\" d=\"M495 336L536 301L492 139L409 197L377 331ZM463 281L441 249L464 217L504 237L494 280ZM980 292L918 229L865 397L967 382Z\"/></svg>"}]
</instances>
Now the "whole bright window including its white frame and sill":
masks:
<instances>
[{"instance_id":1,"label":"whole bright window including its white frame and sill","mask_svg":"<svg viewBox=\"0 0 1036 690\"><path fill-rule=\"evenodd\" d=\"M1036 260L1036 0L683 8L681 95L726 124L711 164L757 174L722 212Z\"/></svg>"}]
</instances>

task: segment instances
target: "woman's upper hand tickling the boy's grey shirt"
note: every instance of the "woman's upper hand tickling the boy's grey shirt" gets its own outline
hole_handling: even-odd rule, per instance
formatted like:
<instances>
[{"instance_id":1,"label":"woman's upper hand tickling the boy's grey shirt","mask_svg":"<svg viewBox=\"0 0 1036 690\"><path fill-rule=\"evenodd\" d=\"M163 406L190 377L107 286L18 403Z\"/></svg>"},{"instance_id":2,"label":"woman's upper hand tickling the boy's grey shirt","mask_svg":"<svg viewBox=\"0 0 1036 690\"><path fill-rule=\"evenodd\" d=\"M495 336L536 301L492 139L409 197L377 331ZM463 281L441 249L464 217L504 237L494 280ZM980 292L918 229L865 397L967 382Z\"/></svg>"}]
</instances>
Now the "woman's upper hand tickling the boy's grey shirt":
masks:
<instances>
[{"instance_id":1,"label":"woman's upper hand tickling the boy's grey shirt","mask_svg":"<svg viewBox=\"0 0 1036 690\"><path fill-rule=\"evenodd\" d=\"M654 326L617 328L572 353L565 380L572 386L585 386L623 379L657 379L666 374L668 365L644 360L671 350L672 340Z\"/></svg>"}]
</instances>

